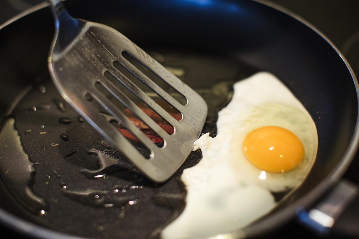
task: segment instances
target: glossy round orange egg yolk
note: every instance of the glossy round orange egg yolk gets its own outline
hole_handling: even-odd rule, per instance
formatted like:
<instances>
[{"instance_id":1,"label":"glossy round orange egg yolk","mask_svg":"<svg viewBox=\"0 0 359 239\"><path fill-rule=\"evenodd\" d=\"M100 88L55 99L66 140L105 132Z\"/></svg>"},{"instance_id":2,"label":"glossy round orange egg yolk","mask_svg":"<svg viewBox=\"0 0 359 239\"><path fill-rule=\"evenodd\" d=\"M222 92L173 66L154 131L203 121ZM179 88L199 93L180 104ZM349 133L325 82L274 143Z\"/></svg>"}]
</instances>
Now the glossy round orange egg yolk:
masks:
<instances>
[{"instance_id":1,"label":"glossy round orange egg yolk","mask_svg":"<svg viewBox=\"0 0 359 239\"><path fill-rule=\"evenodd\" d=\"M270 172L288 171L304 156L304 147L297 135L279 126L252 130L244 138L242 150L248 161Z\"/></svg>"}]
</instances>

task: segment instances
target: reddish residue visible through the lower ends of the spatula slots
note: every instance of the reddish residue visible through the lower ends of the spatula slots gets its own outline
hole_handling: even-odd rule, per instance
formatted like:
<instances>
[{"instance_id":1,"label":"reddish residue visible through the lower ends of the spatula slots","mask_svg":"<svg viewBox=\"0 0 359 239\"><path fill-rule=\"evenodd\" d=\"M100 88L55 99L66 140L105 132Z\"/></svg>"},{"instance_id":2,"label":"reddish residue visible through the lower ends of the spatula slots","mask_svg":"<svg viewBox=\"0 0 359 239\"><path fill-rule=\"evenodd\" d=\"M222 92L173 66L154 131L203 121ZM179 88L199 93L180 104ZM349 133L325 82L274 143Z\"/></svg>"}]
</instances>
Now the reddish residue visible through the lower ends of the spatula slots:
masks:
<instances>
[{"instance_id":1,"label":"reddish residue visible through the lower ends of the spatula slots","mask_svg":"<svg viewBox=\"0 0 359 239\"><path fill-rule=\"evenodd\" d=\"M172 115L172 117L176 120L181 120L182 115L175 110L172 106L156 102L159 104L165 111L168 112L168 114ZM164 121L158 114L156 114L153 110L151 110L146 104L143 102L137 104L141 110L143 110L146 115L150 116L151 119L153 119L162 129L164 129L165 132L168 134L173 134L174 129L171 125L169 125L166 121ZM153 143L160 143L163 142L163 139L161 139L153 130L151 130L143 121L139 120L130 110L126 109L123 111L127 118L129 118L132 123L134 123L137 128L139 128ZM129 139L139 141L134 135L132 135L125 127L123 127L120 123L118 124L118 127L121 131L121 133Z\"/></svg>"}]
</instances>

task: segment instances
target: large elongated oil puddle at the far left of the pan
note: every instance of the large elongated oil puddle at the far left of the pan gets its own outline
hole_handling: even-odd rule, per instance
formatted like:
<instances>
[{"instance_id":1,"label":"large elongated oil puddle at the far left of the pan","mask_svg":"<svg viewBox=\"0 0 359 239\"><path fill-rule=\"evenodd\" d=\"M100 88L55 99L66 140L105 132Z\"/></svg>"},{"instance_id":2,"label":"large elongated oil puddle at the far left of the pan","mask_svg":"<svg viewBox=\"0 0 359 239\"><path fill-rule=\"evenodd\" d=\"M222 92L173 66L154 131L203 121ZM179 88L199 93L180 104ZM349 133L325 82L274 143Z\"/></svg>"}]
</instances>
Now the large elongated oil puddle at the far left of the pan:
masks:
<instances>
[{"instance_id":1,"label":"large elongated oil puddle at the far left of the pan","mask_svg":"<svg viewBox=\"0 0 359 239\"><path fill-rule=\"evenodd\" d=\"M15 119L3 122L0 132L0 174L6 187L17 201L34 214L47 210L45 199L33 191L36 163L33 163L23 148ZM5 145L11 145L6 147Z\"/></svg>"}]
</instances>

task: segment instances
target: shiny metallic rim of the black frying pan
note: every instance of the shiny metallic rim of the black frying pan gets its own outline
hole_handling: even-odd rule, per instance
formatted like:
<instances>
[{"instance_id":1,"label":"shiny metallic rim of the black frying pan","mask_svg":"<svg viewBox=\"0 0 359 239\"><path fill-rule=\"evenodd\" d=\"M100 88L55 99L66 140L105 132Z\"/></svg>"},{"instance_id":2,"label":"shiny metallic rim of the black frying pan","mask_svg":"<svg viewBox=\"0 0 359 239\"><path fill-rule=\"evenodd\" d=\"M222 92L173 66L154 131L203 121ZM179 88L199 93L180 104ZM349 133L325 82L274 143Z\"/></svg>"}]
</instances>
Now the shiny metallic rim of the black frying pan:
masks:
<instances>
[{"instance_id":1,"label":"shiny metallic rim of the black frying pan","mask_svg":"<svg viewBox=\"0 0 359 239\"><path fill-rule=\"evenodd\" d=\"M306 195L292 202L290 205L272 213L268 218L265 218L264 220L260 220L258 221L258 223L255 223L253 225L246 226L243 229L239 229L229 234L224 234L222 235L222 238L245 238L245 237L258 236L260 234L269 232L273 229L279 228L280 226L287 223L288 219L293 219L296 216L296 211L298 208L309 208L310 206L312 206L312 204L315 201L319 200L328 190L330 190L330 188L332 188L337 182L339 182L341 177L349 168L350 163L353 161L359 145L359 129L358 129L359 128L358 126L359 125L359 85L355 77L355 74L353 72L353 69L350 67L348 61L346 61L343 54L322 32L320 32L320 30L318 30L311 23L309 23L307 20L303 19L299 15L284 8L283 6L280 6L276 3L272 3L271 1L268 0L252 0L252 1L269 6L270 8L281 11L282 13L291 16L292 18L306 25L308 28L312 29L314 32L320 35L327 43L330 44L330 46L337 52L337 54L339 54L342 61L345 63L353 79L355 90L356 90L357 102L358 102L358 115L357 115L353 137L351 138L351 141L344 155L341 157L340 161L336 164L336 166L332 169L332 171L316 187L314 187ZM24 16L27 16L31 13L34 13L37 10L46 8L49 5L50 4L47 1L44 1L40 4L32 6L31 8L23 11L22 13L5 21L3 24L0 25L0 30L10 25L14 21ZM41 239L47 239L47 238L84 239L85 238L85 237L74 236L66 233L57 232L51 229L47 229L43 226L39 226L29 221L26 221L22 218L19 218L18 216L15 216L10 212L5 211L2 208L0 208L0 223L12 230L16 230L17 232L23 235L31 236L35 238L41 238Z\"/></svg>"}]
</instances>

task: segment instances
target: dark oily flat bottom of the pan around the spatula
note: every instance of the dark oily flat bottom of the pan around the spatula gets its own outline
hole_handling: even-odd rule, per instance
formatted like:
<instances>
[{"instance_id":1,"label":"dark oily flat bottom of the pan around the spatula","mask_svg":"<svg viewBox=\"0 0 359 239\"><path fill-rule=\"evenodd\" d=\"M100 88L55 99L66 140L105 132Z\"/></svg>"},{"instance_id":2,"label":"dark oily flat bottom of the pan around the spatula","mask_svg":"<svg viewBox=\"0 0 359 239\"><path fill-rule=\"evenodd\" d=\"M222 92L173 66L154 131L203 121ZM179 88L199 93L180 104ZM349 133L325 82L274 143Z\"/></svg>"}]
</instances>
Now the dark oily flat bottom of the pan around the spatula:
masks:
<instances>
[{"instance_id":1,"label":"dark oily flat bottom of the pan around the spatula","mask_svg":"<svg viewBox=\"0 0 359 239\"><path fill-rule=\"evenodd\" d=\"M233 84L258 71L224 57L148 52L205 99L209 112L202 135L211 137ZM126 135L110 115L103 116ZM152 136L160 146L161 140ZM34 86L3 121L0 152L1 177L15 199L33 213L34 222L94 238L156 238L185 206L183 169L202 158L196 150L169 181L149 181L62 100L50 77ZM288 191L271 193L278 202Z\"/></svg>"}]
</instances>

